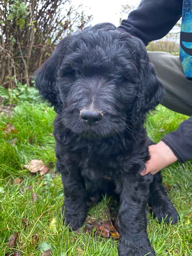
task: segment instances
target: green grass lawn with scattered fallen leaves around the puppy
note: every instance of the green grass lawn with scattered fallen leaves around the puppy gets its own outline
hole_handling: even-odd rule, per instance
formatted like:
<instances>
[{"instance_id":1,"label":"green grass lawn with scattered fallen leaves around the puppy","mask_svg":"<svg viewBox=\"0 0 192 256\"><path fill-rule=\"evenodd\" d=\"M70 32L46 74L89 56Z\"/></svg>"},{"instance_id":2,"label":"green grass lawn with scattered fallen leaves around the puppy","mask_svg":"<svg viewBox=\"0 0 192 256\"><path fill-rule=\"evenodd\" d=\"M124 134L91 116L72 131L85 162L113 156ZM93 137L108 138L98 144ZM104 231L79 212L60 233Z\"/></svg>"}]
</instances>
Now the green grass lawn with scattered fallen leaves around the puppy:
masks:
<instances>
[{"instance_id":1,"label":"green grass lawn with scattered fallen leaves around the puppy","mask_svg":"<svg viewBox=\"0 0 192 256\"><path fill-rule=\"evenodd\" d=\"M187 118L162 106L158 106L158 110L146 123L149 136L156 142ZM118 240L91 236L83 229L70 232L63 226L59 218L63 187L58 174L51 179L46 174L43 178L39 174L32 175L22 166L31 159L41 159L54 173L54 116L53 109L45 104L28 103L15 107L11 117L1 115L0 256L12 255L15 250L21 255L41 255L49 248L52 255L59 256L116 256ZM158 224L149 214L147 229L157 256L192 255L191 171L191 161L174 163L163 170L163 182L169 185L169 197L181 221L176 225ZM104 197L88 214L97 220L107 220L111 204L113 199ZM25 226L23 218L27 219ZM18 238L15 248L11 248L8 238L15 232ZM35 245L34 234L39 239Z\"/></svg>"}]
</instances>

